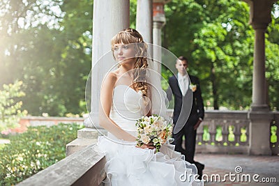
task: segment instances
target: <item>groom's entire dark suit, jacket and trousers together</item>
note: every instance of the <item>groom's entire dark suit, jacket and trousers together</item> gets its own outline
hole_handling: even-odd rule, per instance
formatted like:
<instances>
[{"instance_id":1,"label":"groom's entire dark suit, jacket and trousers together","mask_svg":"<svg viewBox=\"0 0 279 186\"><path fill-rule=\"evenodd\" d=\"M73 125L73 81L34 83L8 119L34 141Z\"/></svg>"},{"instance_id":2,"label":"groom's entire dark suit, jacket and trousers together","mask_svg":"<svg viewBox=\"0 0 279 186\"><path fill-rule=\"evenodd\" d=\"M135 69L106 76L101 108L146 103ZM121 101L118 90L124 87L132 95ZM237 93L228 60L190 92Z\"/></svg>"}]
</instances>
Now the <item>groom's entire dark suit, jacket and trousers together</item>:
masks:
<instances>
[{"instance_id":1,"label":"groom's entire dark suit, jacket and trousers together","mask_svg":"<svg viewBox=\"0 0 279 186\"><path fill-rule=\"evenodd\" d=\"M194 125L197 123L199 118L204 118L204 104L202 100L202 93L199 86L199 79L195 76L189 76L189 84L195 84L197 89L192 91L189 87L186 95L182 95L179 88L179 82L176 76L169 78L169 89L167 90L167 98L172 98L174 95L174 144L175 150L185 155L186 161L197 166L197 173L202 176L202 170L204 164L195 162L195 143L197 130L194 130ZM170 91L170 89L172 91ZM182 137L185 135L185 148L182 148Z\"/></svg>"}]
</instances>

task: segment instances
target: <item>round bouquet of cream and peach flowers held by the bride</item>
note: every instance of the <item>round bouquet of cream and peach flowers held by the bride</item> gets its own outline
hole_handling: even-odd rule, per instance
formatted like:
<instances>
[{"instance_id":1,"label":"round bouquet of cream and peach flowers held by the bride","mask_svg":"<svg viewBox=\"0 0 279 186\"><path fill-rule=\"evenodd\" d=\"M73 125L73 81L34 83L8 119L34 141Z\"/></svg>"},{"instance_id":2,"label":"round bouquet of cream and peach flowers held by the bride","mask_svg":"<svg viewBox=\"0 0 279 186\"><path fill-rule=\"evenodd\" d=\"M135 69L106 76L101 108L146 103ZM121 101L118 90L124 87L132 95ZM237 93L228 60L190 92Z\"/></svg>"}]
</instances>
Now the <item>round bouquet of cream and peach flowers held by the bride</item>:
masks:
<instances>
[{"instance_id":1,"label":"round bouquet of cream and peach flowers held by the bride","mask_svg":"<svg viewBox=\"0 0 279 186\"><path fill-rule=\"evenodd\" d=\"M153 143L156 152L172 136L172 125L165 121L165 118L156 114L152 116L142 116L137 123L137 146Z\"/></svg>"}]
</instances>

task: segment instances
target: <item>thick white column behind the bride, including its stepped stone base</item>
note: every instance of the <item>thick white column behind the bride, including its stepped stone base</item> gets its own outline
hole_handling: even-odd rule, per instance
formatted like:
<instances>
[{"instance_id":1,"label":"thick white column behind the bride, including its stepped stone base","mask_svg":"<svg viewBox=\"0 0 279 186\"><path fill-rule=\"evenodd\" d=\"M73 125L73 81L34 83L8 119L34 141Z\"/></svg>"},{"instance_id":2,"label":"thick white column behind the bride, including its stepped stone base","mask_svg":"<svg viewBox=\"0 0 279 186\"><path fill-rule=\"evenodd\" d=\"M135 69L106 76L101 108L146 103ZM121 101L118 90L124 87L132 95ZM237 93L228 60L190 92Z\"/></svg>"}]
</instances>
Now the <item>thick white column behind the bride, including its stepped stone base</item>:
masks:
<instances>
[{"instance_id":1,"label":"thick white column behind the bride, including its stepped stone base","mask_svg":"<svg viewBox=\"0 0 279 186\"><path fill-rule=\"evenodd\" d=\"M96 143L98 132L106 134L106 131L98 124L100 87L106 73L116 68L110 41L117 32L128 28L129 25L129 0L94 0L91 83L86 84L86 86L91 86L86 87L88 91L86 99L91 102L87 105L90 114L84 121L85 128L77 132L77 139L67 144L67 155Z\"/></svg>"}]
</instances>

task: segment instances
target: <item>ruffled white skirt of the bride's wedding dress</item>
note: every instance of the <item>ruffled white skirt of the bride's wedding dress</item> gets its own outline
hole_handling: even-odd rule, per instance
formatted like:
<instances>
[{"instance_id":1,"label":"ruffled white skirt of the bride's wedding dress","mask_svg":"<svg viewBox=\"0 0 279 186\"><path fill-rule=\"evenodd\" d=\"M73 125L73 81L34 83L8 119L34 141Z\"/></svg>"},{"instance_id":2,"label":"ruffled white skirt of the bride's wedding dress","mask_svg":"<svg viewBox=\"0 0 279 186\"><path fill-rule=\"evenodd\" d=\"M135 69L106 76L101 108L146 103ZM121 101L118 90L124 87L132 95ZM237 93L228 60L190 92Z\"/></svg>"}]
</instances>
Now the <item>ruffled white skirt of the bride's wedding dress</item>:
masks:
<instances>
[{"instance_id":1,"label":"ruffled white skirt of the bride's wedding dress","mask_svg":"<svg viewBox=\"0 0 279 186\"><path fill-rule=\"evenodd\" d=\"M155 149L137 148L135 143L102 136L98 148L107 160L105 185L203 185L195 177L195 164L186 162L184 155L174 151L174 145L163 145L155 153Z\"/></svg>"}]
</instances>

